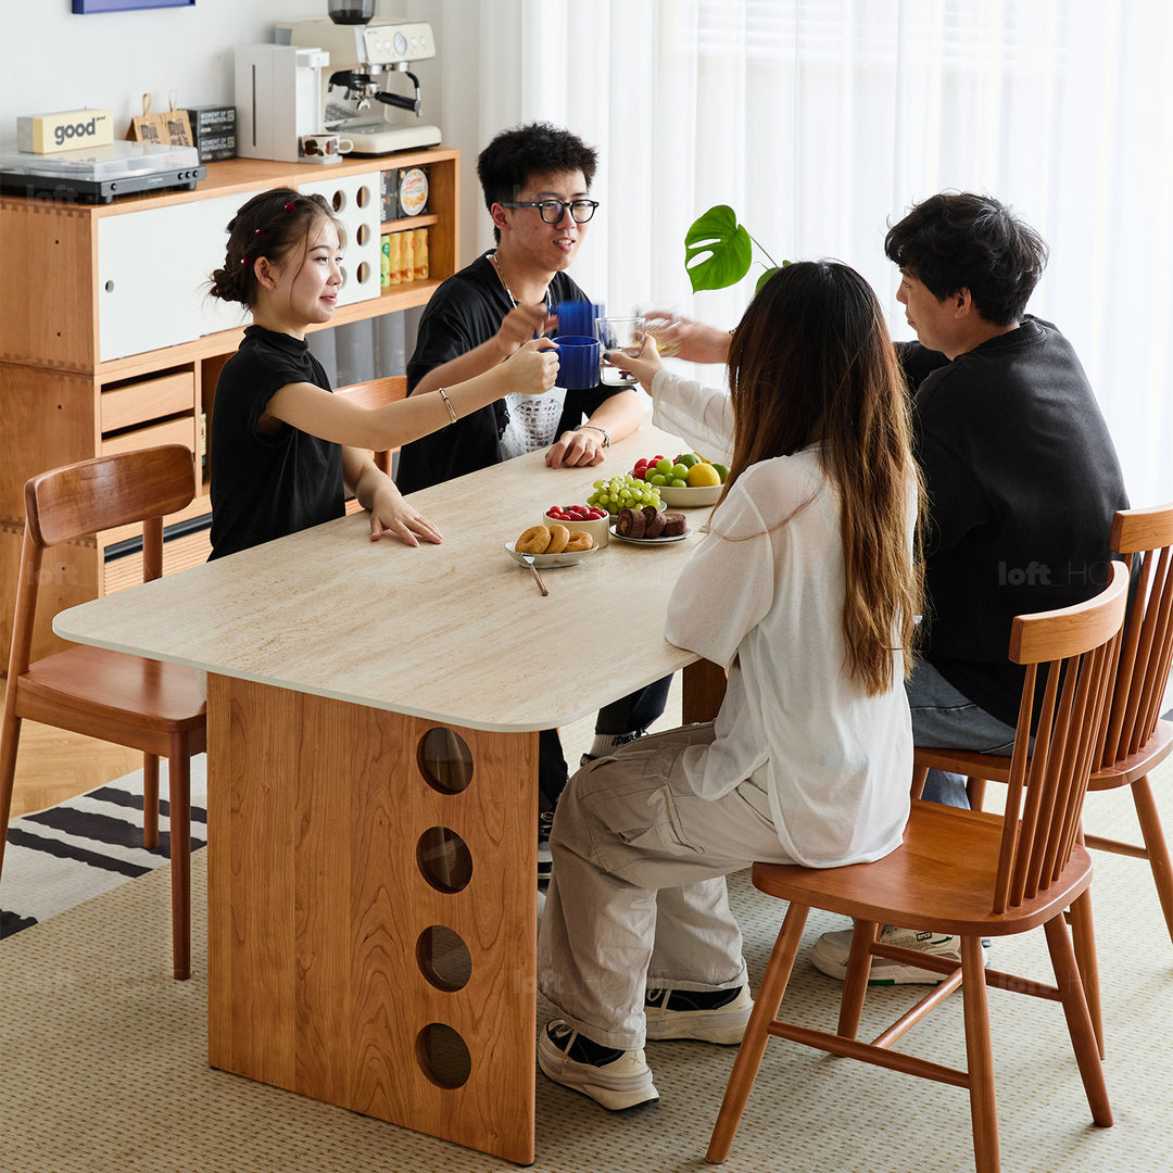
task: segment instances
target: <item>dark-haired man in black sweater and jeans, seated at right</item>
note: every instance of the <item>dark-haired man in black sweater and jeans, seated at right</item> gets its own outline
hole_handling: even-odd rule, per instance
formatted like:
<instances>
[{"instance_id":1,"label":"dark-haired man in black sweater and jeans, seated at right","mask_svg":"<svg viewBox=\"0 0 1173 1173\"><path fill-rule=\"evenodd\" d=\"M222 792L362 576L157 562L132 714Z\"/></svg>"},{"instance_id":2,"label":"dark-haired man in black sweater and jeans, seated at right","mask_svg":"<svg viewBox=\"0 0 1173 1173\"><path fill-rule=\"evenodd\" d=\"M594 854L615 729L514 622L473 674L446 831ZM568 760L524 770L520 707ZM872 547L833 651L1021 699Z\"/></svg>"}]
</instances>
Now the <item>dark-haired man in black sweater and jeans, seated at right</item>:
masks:
<instances>
[{"instance_id":1,"label":"dark-haired man in black sweater and jeans, seated at right","mask_svg":"<svg viewBox=\"0 0 1173 1173\"><path fill-rule=\"evenodd\" d=\"M1025 669L1008 658L1016 615L1080 603L1107 582L1120 463L1071 344L1025 313L1046 263L1033 229L988 196L942 194L884 240L916 343L899 344L928 493L924 643L907 691L921 746L1009 753ZM964 780L930 772L924 796L968 806ZM884 940L960 956L951 937ZM850 931L814 963L842 977ZM873 982L941 975L875 958Z\"/></svg>"}]
</instances>

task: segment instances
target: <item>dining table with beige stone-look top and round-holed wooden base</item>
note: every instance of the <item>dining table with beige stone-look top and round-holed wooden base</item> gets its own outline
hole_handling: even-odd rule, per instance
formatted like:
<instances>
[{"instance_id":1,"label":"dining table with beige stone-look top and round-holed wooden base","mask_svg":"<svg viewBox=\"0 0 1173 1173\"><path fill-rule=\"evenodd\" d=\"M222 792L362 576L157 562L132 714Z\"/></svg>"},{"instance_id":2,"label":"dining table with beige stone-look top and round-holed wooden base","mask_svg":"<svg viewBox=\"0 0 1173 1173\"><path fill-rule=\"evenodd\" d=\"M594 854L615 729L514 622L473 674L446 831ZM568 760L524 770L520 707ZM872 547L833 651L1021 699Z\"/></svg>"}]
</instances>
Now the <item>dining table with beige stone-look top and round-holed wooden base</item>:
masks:
<instances>
[{"instance_id":1,"label":"dining table with beige stone-look top and round-holed wooden base","mask_svg":"<svg viewBox=\"0 0 1173 1173\"><path fill-rule=\"evenodd\" d=\"M208 1056L235 1072L535 1159L538 731L683 671L664 638L679 541L616 540L541 572L506 543L640 455L534 452L411 496L443 535L335 521L59 613L66 639L206 673Z\"/></svg>"}]
</instances>

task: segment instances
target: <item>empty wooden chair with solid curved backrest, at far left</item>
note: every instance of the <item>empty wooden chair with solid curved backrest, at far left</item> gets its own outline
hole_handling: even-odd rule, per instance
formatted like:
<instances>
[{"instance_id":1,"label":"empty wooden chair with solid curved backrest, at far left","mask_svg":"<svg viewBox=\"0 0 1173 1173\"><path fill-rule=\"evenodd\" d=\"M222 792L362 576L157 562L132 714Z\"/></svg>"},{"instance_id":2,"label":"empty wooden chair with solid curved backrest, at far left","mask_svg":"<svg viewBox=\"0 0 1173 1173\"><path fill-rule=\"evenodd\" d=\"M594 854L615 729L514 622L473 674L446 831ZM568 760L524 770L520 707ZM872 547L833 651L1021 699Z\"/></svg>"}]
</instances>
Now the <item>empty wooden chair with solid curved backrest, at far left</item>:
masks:
<instances>
[{"instance_id":1,"label":"empty wooden chair with solid curved backrest, at far left","mask_svg":"<svg viewBox=\"0 0 1173 1173\"><path fill-rule=\"evenodd\" d=\"M177 978L191 974L190 759L204 752L203 690L191 669L101 647L30 660L43 555L100 530L143 524L143 579L163 570L163 516L195 496L190 449L164 445L99 456L25 484L25 541L0 726L0 870L20 727L40 721L143 752L143 841L158 845L158 759L167 758L171 823L171 937Z\"/></svg>"}]
</instances>

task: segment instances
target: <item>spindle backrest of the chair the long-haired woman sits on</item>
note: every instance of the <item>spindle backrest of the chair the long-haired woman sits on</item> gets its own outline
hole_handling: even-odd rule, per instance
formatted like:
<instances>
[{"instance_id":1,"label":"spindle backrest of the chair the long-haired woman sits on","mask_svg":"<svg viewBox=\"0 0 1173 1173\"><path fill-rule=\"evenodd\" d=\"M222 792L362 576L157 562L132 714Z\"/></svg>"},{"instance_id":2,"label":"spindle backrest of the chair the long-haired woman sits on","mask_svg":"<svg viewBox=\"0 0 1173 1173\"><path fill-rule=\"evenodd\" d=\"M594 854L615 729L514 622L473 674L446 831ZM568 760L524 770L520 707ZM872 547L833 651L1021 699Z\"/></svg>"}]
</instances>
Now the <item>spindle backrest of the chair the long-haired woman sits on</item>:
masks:
<instances>
[{"instance_id":1,"label":"spindle backrest of the chair the long-haired woman sits on","mask_svg":"<svg viewBox=\"0 0 1173 1173\"><path fill-rule=\"evenodd\" d=\"M1010 765L994 913L1045 891L1071 859L1127 603L1128 571L1078 606L1013 621L1010 658L1026 666ZM1046 686L1028 752L1038 672Z\"/></svg>"}]
</instances>

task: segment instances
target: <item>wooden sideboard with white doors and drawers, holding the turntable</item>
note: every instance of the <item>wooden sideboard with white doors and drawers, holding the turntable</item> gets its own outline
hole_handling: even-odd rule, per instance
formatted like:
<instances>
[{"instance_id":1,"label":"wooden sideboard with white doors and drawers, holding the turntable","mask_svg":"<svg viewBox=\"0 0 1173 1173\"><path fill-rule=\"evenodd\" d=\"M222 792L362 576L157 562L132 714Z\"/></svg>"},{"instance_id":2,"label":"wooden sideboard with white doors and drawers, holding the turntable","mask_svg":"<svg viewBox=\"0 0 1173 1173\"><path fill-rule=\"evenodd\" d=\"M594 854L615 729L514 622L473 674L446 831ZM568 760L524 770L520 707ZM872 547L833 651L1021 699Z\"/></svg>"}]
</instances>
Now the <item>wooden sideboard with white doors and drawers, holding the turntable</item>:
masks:
<instances>
[{"instance_id":1,"label":"wooden sideboard with white doors and drawers, holding the turntable","mask_svg":"<svg viewBox=\"0 0 1173 1173\"><path fill-rule=\"evenodd\" d=\"M443 148L350 157L328 168L233 158L209 163L194 191L110 204L0 197L0 666L12 635L25 481L154 443L201 452L217 377L248 323L237 307L206 296L237 208L253 192L283 185L331 201L347 229L347 282L330 325L344 325L423 305L456 271L459 164L460 152ZM380 172L407 167L427 168L427 210L384 222ZM382 233L425 226L428 278L380 290ZM164 571L208 555L203 477L192 504L165 518ZM43 609L34 656L63 646L49 628L56 611L136 581L134 552L108 557L133 551L135 537L111 531L50 551L43 574L52 582L42 597L49 591L55 602Z\"/></svg>"}]
</instances>

